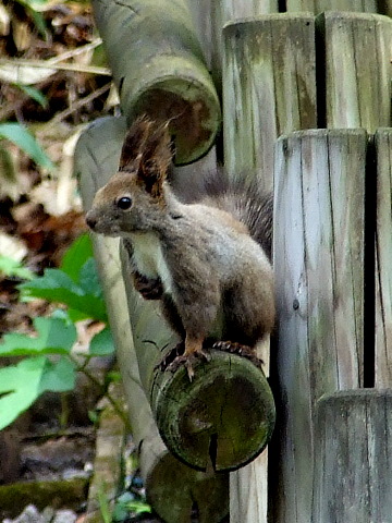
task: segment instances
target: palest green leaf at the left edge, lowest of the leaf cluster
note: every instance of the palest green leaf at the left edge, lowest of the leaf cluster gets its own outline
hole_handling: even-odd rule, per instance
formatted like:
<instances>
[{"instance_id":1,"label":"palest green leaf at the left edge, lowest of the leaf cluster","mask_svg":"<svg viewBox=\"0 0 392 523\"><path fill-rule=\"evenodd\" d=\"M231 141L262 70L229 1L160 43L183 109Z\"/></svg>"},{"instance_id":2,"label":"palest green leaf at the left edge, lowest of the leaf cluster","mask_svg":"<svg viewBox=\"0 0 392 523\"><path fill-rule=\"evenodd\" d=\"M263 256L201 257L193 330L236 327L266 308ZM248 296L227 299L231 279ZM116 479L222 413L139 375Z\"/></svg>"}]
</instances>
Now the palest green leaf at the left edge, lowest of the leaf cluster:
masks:
<instances>
[{"instance_id":1,"label":"palest green leaf at the left edge, lowest of the leaf cluster","mask_svg":"<svg viewBox=\"0 0 392 523\"><path fill-rule=\"evenodd\" d=\"M45 356L0 368L0 430L26 411L40 394Z\"/></svg>"}]
</instances>

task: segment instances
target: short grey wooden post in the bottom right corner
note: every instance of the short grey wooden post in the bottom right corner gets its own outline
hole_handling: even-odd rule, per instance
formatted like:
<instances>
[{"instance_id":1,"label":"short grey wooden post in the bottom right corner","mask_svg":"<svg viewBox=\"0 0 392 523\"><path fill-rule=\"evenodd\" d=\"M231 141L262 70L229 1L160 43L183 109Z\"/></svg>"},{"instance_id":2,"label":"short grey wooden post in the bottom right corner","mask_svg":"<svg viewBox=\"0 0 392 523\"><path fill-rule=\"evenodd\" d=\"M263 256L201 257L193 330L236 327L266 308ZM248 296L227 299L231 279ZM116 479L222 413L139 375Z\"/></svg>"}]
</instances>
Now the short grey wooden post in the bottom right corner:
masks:
<instances>
[{"instance_id":1,"label":"short grey wooden post in the bottom right corner","mask_svg":"<svg viewBox=\"0 0 392 523\"><path fill-rule=\"evenodd\" d=\"M336 392L318 402L311 523L391 520L391 390Z\"/></svg>"}]
</instances>

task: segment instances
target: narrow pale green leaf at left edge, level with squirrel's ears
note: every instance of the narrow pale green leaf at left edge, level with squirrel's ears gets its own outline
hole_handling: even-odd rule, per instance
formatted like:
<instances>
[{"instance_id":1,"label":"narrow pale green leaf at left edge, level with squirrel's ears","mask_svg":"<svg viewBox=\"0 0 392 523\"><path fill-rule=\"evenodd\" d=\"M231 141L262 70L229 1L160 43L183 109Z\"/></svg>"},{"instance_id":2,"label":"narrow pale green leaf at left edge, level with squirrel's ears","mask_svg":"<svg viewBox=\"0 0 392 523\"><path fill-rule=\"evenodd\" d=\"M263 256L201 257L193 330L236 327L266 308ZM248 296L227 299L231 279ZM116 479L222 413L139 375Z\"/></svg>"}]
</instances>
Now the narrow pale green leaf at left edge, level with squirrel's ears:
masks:
<instances>
[{"instance_id":1,"label":"narrow pale green leaf at left edge, level with squirrel's ears","mask_svg":"<svg viewBox=\"0 0 392 523\"><path fill-rule=\"evenodd\" d=\"M53 170L54 166L35 139L33 134L20 123L0 123L0 139L5 138L17 145L39 166Z\"/></svg>"}]
</instances>

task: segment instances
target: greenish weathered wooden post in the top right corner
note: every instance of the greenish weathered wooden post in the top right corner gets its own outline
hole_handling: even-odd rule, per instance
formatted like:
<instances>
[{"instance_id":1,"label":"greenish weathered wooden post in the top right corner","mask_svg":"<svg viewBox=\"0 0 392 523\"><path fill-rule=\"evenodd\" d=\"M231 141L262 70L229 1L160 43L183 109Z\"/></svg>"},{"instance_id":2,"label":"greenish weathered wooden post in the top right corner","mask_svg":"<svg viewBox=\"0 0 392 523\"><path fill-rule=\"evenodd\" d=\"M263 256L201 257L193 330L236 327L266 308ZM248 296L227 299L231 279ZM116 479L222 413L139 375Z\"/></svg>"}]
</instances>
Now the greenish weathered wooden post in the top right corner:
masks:
<instances>
[{"instance_id":1,"label":"greenish weathered wooden post in the top right corner","mask_svg":"<svg viewBox=\"0 0 392 523\"><path fill-rule=\"evenodd\" d=\"M392 21L377 14L327 12L318 17L318 26L326 46L327 127L373 133L389 126Z\"/></svg>"}]
</instances>

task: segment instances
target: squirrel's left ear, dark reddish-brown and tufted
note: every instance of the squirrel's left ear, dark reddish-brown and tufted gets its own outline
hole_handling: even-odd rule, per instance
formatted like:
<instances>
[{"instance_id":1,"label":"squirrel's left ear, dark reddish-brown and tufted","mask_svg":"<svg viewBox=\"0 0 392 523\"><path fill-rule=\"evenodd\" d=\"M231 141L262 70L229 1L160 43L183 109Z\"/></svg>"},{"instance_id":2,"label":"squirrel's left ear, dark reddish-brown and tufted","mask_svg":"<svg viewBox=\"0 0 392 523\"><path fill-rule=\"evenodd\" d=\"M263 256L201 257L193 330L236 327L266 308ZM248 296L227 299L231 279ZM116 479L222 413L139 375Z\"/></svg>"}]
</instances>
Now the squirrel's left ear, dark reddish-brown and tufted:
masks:
<instances>
[{"instance_id":1,"label":"squirrel's left ear, dark reddish-brown and tufted","mask_svg":"<svg viewBox=\"0 0 392 523\"><path fill-rule=\"evenodd\" d=\"M137 170L146 147L146 141L150 135L151 122L146 115L134 121L125 135L121 150L119 171Z\"/></svg>"}]
</instances>

